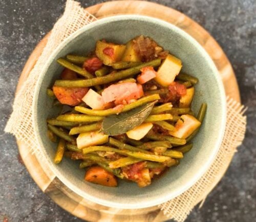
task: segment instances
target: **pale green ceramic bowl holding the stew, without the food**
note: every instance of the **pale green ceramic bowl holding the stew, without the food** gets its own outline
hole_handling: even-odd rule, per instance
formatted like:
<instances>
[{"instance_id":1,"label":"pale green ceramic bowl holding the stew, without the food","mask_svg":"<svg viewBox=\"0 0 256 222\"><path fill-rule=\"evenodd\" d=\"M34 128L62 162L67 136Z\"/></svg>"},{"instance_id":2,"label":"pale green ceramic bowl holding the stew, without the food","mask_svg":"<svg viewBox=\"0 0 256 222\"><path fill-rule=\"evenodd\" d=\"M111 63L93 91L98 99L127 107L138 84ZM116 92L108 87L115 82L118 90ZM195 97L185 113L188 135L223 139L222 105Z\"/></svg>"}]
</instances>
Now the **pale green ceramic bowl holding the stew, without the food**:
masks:
<instances>
[{"instance_id":1,"label":"pale green ceramic bowl holding the stew, without the food","mask_svg":"<svg viewBox=\"0 0 256 222\"><path fill-rule=\"evenodd\" d=\"M194 147L182 159L178 167L170 168L162 177L145 188L135 183L119 181L118 187L110 188L83 180L84 170L78 163L64 158L54 164L56 143L47 137L46 119L57 114L52 108L46 89L60 77L62 67L56 62L67 54L87 55L94 50L99 39L125 43L139 36L150 36L171 54L180 58L183 71L199 79L193 110L197 112L201 103L208 104L207 114L200 132L194 138ZM41 146L43 158L60 181L83 198L95 203L124 209L137 209L161 204L175 198L204 174L214 160L225 129L225 92L216 66L200 44L179 28L165 21L139 16L122 15L108 17L76 31L49 57L42 67L33 103L35 133Z\"/></svg>"}]
</instances>

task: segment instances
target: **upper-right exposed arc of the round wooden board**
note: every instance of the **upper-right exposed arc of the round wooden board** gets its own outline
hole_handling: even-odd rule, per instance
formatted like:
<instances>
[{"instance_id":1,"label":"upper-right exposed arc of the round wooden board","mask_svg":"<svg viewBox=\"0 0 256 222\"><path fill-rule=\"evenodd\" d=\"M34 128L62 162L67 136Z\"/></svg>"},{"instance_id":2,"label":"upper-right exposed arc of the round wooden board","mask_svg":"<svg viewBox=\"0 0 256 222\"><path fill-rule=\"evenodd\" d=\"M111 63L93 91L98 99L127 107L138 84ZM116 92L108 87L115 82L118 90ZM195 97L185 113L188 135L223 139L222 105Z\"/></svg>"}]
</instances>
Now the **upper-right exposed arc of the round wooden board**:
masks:
<instances>
[{"instance_id":1,"label":"upper-right exposed arc of the round wooden board","mask_svg":"<svg viewBox=\"0 0 256 222\"><path fill-rule=\"evenodd\" d=\"M97 18L122 14L140 14L160 18L174 24L194 37L204 47L220 72L226 94L240 102L236 76L222 48L205 29L181 12L156 3L144 1L107 2L89 7L86 10Z\"/></svg>"}]
</instances>

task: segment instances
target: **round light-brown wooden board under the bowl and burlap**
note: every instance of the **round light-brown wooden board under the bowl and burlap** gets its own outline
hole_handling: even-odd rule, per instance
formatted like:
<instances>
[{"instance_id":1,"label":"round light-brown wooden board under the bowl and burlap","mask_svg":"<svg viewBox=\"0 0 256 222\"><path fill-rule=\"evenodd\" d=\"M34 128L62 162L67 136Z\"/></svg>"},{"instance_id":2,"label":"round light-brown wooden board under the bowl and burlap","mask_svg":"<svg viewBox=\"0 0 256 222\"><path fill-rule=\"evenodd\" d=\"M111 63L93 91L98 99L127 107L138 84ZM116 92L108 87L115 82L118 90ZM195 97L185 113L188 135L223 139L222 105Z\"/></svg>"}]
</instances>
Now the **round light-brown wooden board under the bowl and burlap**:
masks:
<instances>
[{"instance_id":1,"label":"round light-brown wooden board under the bowl and burlap","mask_svg":"<svg viewBox=\"0 0 256 222\"><path fill-rule=\"evenodd\" d=\"M86 10L98 19L119 14L141 14L160 18L175 24L175 26L193 36L205 48L220 72L226 95L240 102L237 80L222 48L198 23L184 14L172 8L144 1L106 2L89 7ZM46 46L49 35L50 33L38 43L29 57L20 75L17 91L34 67L38 57ZM122 210L101 206L89 200L84 200L80 195L74 193L58 180L45 164L40 163L40 158L32 154L24 142L17 141L17 144L20 156L22 156L36 184L42 191L47 193L56 204L73 215L89 221L163 221L167 219L157 206L137 210ZM212 184L212 188L214 188L216 184Z\"/></svg>"}]
</instances>

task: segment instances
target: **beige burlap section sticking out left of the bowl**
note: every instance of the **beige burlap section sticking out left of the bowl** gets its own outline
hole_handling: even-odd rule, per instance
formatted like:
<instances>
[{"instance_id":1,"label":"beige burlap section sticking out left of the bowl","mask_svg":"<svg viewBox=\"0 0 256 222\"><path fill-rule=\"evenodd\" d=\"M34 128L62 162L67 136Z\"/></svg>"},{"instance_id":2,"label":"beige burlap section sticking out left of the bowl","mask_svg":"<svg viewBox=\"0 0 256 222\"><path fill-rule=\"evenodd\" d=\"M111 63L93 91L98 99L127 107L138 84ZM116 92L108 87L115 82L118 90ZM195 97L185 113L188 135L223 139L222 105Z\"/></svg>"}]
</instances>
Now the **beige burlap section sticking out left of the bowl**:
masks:
<instances>
[{"instance_id":1,"label":"beige burlap section sticking out left of the bowl","mask_svg":"<svg viewBox=\"0 0 256 222\"><path fill-rule=\"evenodd\" d=\"M45 65L47 59L60 42L94 20L97 19L81 8L79 3L68 0L65 12L55 23L44 51L42 51L34 68L29 73L23 87L15 96L13 112L5 131L15 135L17 140L25 142L33 152L40 153L40 147L35 142L36 137L32 124L32 103L34 88L40 75L41 67Z\"/></svg>"}]
</instances>

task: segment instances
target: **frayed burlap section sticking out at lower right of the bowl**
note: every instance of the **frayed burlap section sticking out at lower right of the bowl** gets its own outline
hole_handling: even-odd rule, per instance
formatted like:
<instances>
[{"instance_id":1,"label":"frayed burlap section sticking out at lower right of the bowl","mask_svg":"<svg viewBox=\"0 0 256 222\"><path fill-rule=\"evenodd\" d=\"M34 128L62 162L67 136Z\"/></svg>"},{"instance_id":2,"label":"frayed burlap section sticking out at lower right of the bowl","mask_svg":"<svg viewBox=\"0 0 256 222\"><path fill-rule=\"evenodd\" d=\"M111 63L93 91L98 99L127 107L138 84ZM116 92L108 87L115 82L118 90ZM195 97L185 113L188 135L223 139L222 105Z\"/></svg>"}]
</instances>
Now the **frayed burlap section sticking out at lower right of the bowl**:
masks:
<instances>
[{"instance_id":1,"label":"frayed burlap section sticking out at lower right of the bowl","mask_svg":"<svg viewBox=\"0 0 256 222\"><path fill-rule=\"evenodd\" d=\"M237 147L241 145L246 129L244 106L227 98L227 124L220 150L207 172L187 191L177 198L161 204L161 210L166 217L184 221L190 211L206 196L223 177Z\"/></svg>"}]
</instances>

